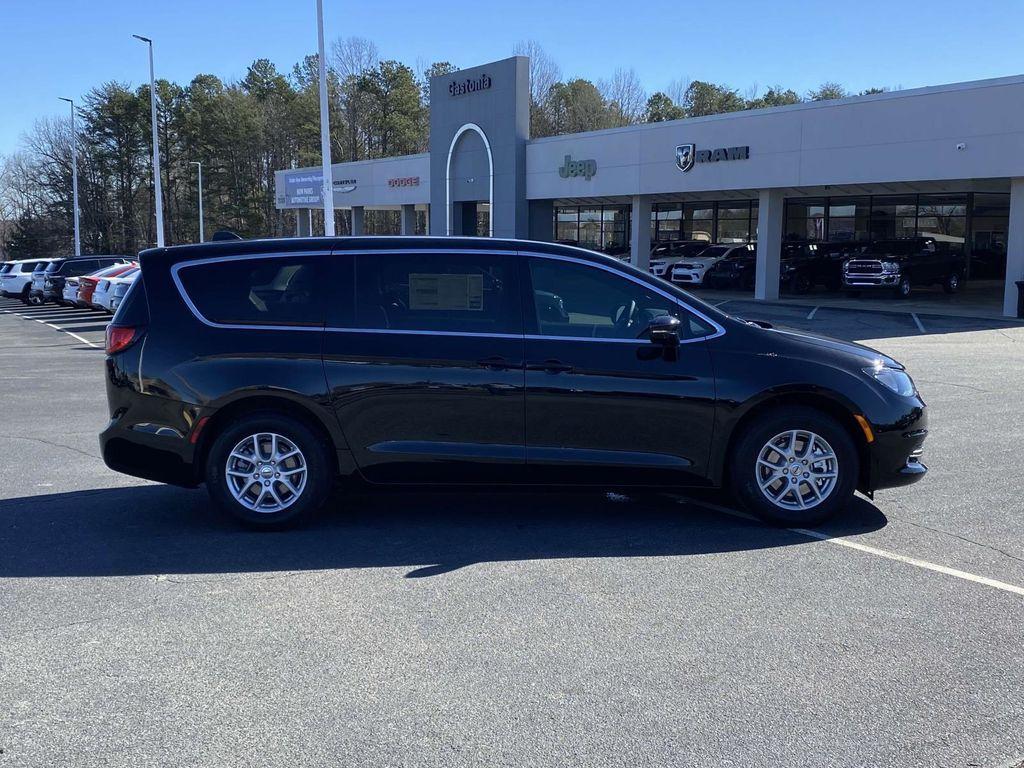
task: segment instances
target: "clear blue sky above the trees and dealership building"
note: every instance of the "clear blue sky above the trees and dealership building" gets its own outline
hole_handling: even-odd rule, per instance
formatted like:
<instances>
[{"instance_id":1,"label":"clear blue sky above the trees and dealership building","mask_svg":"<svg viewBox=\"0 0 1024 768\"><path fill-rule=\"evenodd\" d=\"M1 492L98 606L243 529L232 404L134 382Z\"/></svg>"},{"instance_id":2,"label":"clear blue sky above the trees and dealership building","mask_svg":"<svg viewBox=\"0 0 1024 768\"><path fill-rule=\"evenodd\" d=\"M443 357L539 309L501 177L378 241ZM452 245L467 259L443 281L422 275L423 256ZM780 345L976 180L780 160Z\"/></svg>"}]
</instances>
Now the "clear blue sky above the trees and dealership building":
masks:
<instances>
[{"instance_id":1,"label":"clear blue sky above the trees and dealership building","mask_svg":"<svg viewBox=\"0 0 1024 768\"><path fill-rule=\"evenodd\" d=\"M1024 73L1024 0L325 0L328 39L358 35L411 66L472 66L539 41L563 75L596 80L634 68L648 90L672 80L799 92L825 80L852 90ZM315 50L314 0L0 0L0 154L41 116L63 114L108 80L186 83L245 75L254 58L283 71Z\"/></svg>"}]
</instances>

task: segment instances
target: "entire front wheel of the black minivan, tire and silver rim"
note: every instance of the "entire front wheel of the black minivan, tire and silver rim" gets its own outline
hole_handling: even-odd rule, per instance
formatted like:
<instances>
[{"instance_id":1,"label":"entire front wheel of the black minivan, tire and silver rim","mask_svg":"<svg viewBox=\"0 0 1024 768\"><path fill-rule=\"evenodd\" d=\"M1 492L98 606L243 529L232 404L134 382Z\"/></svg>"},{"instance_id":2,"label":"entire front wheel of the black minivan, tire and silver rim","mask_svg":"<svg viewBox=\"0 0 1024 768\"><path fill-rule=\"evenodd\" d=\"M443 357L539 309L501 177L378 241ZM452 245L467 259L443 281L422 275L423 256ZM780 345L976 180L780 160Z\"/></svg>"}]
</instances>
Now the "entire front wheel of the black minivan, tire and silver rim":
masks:
<instances>
[{"instance_id":1,"label":"entire front wheel of the black minivan, tire and silver rim","mask_svg":"<svg viewBox=\"0 0 1024 768\"><path fill-rule=\"evenodd\" d=\"M827 414L780 408L754 421L732 457L732 490L776 525L815 525L850 503L859 475L850 434Z\"/></svg>"}]
</instances>

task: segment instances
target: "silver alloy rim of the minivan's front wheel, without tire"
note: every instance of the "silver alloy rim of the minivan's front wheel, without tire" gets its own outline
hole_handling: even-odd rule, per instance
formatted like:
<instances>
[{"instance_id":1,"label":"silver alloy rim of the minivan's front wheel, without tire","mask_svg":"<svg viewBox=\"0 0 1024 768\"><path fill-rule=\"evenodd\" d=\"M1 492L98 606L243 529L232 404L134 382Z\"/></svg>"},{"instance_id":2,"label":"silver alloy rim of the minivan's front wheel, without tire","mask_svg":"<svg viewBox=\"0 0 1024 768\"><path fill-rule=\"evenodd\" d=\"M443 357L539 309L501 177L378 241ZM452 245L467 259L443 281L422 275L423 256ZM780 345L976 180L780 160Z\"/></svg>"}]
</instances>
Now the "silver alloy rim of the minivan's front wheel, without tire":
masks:
<instances>
[{"instance_id":1,"label":"silver alloy rim of the minivan's front wheel, without tire","mask_svg":"<svg viewBox=\"0 0 1024 768\"><path fill-rule=\"evenodd\" d=\"M835 490L839 460L821 435L793 429L765 443L754 472L761 493L776 507L812 509Z\"/></svg>"}]
</instances>

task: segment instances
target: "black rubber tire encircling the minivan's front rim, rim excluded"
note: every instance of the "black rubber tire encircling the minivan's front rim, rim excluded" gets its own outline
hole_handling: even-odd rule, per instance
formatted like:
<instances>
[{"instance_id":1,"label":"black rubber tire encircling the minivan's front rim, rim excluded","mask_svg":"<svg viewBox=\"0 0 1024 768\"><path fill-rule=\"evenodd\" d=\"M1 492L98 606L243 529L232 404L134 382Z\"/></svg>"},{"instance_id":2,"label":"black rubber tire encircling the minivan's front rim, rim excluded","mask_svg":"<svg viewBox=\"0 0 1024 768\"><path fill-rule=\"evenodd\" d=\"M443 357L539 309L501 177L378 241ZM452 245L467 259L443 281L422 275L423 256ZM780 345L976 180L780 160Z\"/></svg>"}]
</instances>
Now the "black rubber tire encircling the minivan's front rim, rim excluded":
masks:
<instances>
[{"instance_id":1,"label":"black rubber tire encircling the minivan's front rim, rim excluded","mask_svg":"<svg viewBox=\"0 0 1024 768\"><path fill-rule=\"evenodd\" d=\"M823 501L808 509L787 509L762 493L758 458L769 440L790 430L807 430L823 438L836 455L839 476ZM799 460L798 460L799 461ZM770 470L769 470L770 471ZM774 525L816 525L842 512L853 499L860 475L860 459L849 432L834 418L812 408L785 406L758 417L738 436L730 462L730 486L748 511ZM784 488L784 485L782 486ZM805 484L798 479L798 488ZM806 488L808 494L810 488ZM783 498L796 504L795 497Z\"/></svg>"}]
</instances>

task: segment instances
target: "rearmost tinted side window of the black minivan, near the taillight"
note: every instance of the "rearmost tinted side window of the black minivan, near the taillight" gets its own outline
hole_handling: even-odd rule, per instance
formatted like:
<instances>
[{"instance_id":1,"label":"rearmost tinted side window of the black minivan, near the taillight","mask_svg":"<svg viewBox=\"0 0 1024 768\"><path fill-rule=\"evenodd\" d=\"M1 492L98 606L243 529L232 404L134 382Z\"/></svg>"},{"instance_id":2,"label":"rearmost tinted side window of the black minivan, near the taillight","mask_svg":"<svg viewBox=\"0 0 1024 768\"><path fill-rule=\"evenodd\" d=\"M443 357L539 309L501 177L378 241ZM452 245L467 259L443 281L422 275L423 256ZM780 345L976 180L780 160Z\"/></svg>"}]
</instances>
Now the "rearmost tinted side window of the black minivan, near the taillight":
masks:
<instances>
[{"instance_id":1,"label":"rearmost tinted side window of the black minivan, near the taillight","mask_svg":"<svg viewBox=\"0 0 1024 768\"><path fill-rule=\"evenodd\" d=\"M316 256L275 256L183 264L177 279L211 323L323 326L322 262Z\"/></svg>"}]
</instances>

